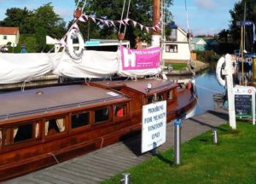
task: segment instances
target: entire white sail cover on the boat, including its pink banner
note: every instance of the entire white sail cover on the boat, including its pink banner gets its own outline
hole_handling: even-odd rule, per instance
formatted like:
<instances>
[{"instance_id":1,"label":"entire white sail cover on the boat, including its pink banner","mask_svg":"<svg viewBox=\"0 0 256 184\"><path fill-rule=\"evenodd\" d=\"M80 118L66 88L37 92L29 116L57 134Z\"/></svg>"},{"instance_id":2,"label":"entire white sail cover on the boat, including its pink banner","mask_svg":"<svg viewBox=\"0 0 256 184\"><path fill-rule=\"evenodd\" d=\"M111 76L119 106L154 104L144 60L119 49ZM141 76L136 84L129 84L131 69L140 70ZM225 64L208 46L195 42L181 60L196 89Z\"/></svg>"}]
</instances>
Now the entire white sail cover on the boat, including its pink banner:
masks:
<instances>
[{"instance_id":1,"label":"entire white sail cover on the boat, including its pink banner","mask_svg":"<svg viewBox=\"0 0 256 184\"><path fill-rule=\"evenodd\" d=\"M160 72L159 55L159 48L143 51L123 48L117 52L84 50L79 60L73 60L66 52L0 54L0 84L27 82L49 72L71 78L103 78L114 73L126 77L155 75Z\"/></svg>"}]
</instances>

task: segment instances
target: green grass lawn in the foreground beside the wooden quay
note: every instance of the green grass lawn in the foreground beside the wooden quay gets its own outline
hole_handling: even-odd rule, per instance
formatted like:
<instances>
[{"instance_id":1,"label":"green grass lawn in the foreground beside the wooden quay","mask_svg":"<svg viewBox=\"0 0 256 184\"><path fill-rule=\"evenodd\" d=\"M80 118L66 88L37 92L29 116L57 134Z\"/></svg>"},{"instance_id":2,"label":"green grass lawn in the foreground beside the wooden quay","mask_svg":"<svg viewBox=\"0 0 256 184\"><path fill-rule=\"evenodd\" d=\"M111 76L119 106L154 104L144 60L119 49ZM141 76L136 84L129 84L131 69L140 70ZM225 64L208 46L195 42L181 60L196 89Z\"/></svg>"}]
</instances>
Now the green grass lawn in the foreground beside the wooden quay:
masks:
<instances>
[{"instance_id":1,"label":"green grass lawn in the foreground beside the wooden quay","mask_svg":"<svg viewBox=\"0 0 256 184\"><path fill-rule=\"evenodd\" d=\"M218 128L218 145L212 145L212 131L182 145L182 164L172 164L173 151L160 153L125 172L131 183L256 183L256 126L238 123ZM119 183L116 175L103 183Z\"/></svg>"}]
</instances>

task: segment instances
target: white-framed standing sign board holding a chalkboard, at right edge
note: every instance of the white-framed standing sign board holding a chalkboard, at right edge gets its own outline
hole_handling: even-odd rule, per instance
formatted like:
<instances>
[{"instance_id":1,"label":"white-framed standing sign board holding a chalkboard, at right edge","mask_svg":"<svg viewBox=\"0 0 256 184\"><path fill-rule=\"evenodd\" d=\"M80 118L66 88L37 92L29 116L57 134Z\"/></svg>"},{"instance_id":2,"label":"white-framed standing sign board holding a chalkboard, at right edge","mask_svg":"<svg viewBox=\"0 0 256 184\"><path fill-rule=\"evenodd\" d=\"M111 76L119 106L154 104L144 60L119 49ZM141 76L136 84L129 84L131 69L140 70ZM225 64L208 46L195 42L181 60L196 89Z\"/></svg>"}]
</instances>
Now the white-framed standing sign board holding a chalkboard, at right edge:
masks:
<instances>
[{"instance_id":1,"label":"white-framed standing sign board holding a chalkboard, at right edge","mask_svg":"<svg viewBox=\"0 0 256 184\"><path fill-rule=\"evenodd\" d=\"M255 89L251 86L234 88L235 111L238 118L253 118L255 124Z\"/></svg>"}]
</instances>

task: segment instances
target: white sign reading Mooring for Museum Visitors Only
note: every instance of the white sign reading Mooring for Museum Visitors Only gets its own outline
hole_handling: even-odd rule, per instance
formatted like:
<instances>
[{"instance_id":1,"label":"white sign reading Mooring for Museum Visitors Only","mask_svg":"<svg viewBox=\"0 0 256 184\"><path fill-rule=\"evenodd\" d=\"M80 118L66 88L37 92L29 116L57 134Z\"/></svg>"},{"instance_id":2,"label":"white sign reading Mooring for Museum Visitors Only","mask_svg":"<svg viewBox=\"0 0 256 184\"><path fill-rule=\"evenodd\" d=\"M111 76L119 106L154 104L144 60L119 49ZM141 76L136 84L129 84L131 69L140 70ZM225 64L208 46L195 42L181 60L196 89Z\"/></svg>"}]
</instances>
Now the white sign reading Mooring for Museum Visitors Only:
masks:
<instances>
[{"instance_id":1,"label":"white sign reading Mooring for Museum Visitors Only","mask_svg":"<svg viewBox=\"0 0 256 184\"><path fill-rule=\"evenodd\" d=\"M166 142L166 101L143 106L142 152Z\"/></svg>"}]
</instances>

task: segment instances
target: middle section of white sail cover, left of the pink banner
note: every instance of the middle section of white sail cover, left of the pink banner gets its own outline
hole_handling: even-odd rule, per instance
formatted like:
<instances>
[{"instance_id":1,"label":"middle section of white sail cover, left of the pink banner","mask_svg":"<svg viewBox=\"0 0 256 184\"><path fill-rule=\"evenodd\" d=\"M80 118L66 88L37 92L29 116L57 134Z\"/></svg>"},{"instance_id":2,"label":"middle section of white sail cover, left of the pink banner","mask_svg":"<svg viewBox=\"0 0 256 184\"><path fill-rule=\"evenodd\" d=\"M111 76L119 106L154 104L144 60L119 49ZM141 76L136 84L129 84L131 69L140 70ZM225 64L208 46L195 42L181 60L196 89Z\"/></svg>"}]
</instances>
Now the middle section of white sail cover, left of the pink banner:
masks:
<instances>
[{"instance_id":1,"label":"middle section of white sail cover, left of the pink banner","mask_svg":"<svg viewBox=\"0 0 256 184\"><path fill-rule=\"evenodd\" d=\"M72 78L102 78L117 71L117 52L84 50L80 60L72 60L67 53L55 57L53 73Z\"/></svg>"}]
</instances>

